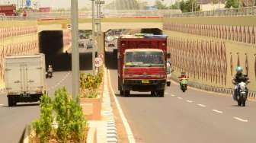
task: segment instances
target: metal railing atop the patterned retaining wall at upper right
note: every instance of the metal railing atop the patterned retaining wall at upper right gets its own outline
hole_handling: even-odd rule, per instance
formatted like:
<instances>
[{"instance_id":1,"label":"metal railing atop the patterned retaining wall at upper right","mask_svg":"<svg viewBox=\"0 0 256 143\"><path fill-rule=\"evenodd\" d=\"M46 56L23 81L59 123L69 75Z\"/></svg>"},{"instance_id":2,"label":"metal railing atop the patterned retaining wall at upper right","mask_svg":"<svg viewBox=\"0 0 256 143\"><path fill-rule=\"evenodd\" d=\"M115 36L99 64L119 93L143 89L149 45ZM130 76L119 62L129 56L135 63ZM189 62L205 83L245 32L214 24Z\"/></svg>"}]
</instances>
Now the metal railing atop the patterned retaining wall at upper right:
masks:
<instances>
[{"instance_id":1,"label":"metal railing atop the patterned retaining wall at upper right","mask_svg":"<svg viewBox=\"0 0 256 143\"><path fill-rule=\"evenodd\" d=\"M256 6L245 8L225 8L215 11L197 11L182 14L165 14L164 17L226 17L256 15Z\"/></svg>"}]
</instances>

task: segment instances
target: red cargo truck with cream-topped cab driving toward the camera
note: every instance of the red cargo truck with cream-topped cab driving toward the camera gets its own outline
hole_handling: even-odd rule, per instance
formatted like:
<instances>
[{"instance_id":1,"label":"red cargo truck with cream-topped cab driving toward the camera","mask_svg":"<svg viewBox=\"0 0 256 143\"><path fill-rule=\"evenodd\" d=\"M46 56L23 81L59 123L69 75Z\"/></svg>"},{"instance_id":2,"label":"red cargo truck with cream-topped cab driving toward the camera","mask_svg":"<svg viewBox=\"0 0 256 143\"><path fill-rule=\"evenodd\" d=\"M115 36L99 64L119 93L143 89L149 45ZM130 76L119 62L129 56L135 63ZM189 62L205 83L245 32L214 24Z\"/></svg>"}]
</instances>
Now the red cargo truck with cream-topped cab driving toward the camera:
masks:
<instances>
[{"instance_id":1,"label":"red cargo truck with cream-topped cab driving toward the camera","mask_svg":"<svg viewBox=\"0 0 256 143\"><path fill-rule=\"evenodd\" d=\"M121 36L118 39L118 90L124 97L130 91L165 96L167 36Z\"/></svg>"}]
</instances>

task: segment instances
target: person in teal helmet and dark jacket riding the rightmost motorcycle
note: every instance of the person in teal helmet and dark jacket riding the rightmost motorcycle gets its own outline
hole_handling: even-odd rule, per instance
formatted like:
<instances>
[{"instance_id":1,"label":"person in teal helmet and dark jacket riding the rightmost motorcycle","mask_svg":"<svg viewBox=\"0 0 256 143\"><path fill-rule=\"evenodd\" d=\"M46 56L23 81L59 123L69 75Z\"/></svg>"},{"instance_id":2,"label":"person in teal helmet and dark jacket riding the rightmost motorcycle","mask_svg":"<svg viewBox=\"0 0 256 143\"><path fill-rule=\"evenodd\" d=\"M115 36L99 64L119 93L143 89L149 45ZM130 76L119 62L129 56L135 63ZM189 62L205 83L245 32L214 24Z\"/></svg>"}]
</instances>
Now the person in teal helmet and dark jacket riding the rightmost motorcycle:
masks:
<instances>
[{"instance_id":1,"label":"person in teal helmet and dark jacket riding the rightmost motorcycle","mask_svg":"<svg viewBox=\"0 0 256 143\"><path fill-rule=\"evenodd\" d=\"M248 84L249 78L247 75L242 73L242 67L241 66L237 66L235 68L236 74L235 74L235 78L232 79L232 83L235 84L235 90L234 90L234 94L233 94L233 99L236 100L236 94L238 93L238 84L240 82L245 82L246 84Z\"/></svg>"}]
</instances>

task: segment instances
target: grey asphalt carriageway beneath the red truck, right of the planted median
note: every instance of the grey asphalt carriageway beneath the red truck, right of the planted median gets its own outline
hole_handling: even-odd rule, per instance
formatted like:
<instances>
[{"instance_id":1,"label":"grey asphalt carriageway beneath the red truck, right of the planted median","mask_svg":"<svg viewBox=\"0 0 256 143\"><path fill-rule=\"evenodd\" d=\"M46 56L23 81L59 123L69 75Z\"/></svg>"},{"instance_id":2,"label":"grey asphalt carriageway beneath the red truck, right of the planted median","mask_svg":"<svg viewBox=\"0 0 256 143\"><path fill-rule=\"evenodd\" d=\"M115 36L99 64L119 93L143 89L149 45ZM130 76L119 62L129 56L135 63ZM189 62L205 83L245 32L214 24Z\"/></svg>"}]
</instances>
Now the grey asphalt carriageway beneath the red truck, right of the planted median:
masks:
<instances>
[{"instance_id":1,"label":"grey asphalt carriageway beneath the red truck, right of the planted median","mask_svg":"<svg viewBox=\"0 0 256 143\"><path fill-rule=\"evenodd\" d=\"M121 97L116 61L110 62L110 83L136 142L255 142L255 102L239 107L230 96L192 89L182 93L173 83L162 98L138 92Z\"/></svg>"}]
</instances>

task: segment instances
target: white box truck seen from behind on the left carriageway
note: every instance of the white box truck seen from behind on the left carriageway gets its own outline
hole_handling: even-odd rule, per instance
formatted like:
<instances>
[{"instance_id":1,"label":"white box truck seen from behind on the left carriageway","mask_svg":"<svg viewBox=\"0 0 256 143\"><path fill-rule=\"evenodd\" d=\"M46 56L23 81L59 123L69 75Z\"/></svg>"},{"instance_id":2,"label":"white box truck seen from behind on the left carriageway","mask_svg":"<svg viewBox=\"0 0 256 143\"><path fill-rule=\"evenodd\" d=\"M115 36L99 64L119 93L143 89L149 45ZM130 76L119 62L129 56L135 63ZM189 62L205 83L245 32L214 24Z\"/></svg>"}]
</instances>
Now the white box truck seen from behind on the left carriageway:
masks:
<instances>
[{"instance_id":1,"label":"white box truck seen from behind on the left carriageway","mask_svg":"<svg viewBox=\"0 0 256 143\"><path fill-rule=\"evenodd\" d=\"M43 54L6 56L4 71L8 106L15 106L18 102L37 102L46 94Z\"/></svg>"}]
</instances>

